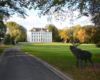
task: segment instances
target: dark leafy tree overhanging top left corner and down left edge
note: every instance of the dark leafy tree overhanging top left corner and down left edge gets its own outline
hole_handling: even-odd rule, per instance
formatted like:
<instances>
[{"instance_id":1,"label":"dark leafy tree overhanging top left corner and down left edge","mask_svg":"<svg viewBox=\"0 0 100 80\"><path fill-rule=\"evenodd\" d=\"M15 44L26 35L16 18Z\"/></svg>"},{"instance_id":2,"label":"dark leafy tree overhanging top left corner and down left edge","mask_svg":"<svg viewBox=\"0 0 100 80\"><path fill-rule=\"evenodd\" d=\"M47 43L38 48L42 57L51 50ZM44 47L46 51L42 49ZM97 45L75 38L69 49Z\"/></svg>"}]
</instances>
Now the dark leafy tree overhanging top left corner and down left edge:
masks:
<instances>
[{"instance_id":1,"label":"dark leafy tree overhanging top left corner and down left edge","mask_svg":"<svg viewBox=\"0 0 100 80\"><path fill-rule=\"evenodd\" d=\"M25 9L29 9L32 4L32 1L29 0L0 0L0 39L6 32L3 20L10 18L15 13L25 18L27 16Z\"/></svg>"}]
</instances>

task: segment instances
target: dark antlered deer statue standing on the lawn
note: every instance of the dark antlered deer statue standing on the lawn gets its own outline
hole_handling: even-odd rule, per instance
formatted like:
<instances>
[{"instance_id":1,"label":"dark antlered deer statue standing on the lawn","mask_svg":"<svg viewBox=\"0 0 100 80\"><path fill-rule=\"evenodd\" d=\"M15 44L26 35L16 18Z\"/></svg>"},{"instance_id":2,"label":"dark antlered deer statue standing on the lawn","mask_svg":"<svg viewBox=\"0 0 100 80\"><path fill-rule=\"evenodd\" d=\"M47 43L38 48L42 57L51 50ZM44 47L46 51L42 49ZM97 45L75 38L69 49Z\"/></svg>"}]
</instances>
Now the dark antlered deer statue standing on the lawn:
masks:
<instances>
[{"instance_id":1,"label":"dark antlered deer statue standing on the lawn","mask_svg":"<svg viewBox=\"0 0 100 80\"><path fill-rule=\"evenodd\" d=\"M94 66L93 62L91 60L92 54L89 51L78 49L77 46L79 46L79 45L80 44L76 45L74 43L73 46L70 46L70 50L74 54L74 56L76 57L76 60L77 60L76 67L78 68L79 60L80 60L80 69L82 69L82 60L85 61L85 64L84 64L84 67L85 67L85 65L87 63L87 59L92 64L92 66Z\"/></svg>"}]
</instances>

